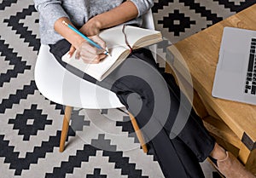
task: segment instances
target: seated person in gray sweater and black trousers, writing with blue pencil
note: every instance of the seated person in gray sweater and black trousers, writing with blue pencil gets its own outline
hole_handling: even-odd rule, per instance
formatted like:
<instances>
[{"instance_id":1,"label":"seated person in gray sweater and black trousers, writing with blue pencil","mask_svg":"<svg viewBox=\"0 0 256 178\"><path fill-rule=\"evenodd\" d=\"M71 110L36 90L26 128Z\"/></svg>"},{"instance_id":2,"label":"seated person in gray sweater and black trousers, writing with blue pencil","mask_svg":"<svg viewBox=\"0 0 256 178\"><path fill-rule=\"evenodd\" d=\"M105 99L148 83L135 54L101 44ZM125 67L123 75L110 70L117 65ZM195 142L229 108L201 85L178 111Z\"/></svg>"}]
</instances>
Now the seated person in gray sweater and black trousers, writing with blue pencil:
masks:
<instances>
[{"instance_id":1,"label":"seated person in gray sweater and black trousers, writing with blue pencil","mask_svg":"<svg viewBox=\"0 0 256 178\"><path fill-rule=\"evenodd\" d=\"M40 15L41 43L49 44L50 52L60 63L62 55L67 51L73 55L74 50L77 50L77 58L84 60L85 63L99 63L104 60L106 44L98 36L99 32L124 23L141 26L141 15L154 4L153 0L34 0L34 2ZM80 32L100 44L103 50L96 49L83 37L63 26L63 20L76 26ZM151 84L137 76L136 72L132 73L132 68L136 65L142 65L140 68L142 73L153 76L149 83L157 83L157 87L165 93L166 102L155 102L155 90L152 89ZM132 75L123 75L124 66L128 68L131 66ZM148 70L148 67L152 70ZM134 51L101 83L87 75L83 78L111 89L136 116L139 125L142 128L148 126L148 129L143 129L143 135L148 138L148 144L154 149L166 177L204 177L199 162L204 161L208 156L211 156L218 170L227 178L254 177L230 152L225 152L224 148L218 146L204 128L201 118L193 110L189 111L188 121L181 132L170 138L178 108L183 107L183 103L179 100L183 94L177 88L172 75L158 70L153 56L147 49ZM169 106L166 116L152 112L154 108L162 108L162 106ZM140 110L137 111L137 108ZM156 130L154 135L152 130Z\"/></svg>"}]
</instances>

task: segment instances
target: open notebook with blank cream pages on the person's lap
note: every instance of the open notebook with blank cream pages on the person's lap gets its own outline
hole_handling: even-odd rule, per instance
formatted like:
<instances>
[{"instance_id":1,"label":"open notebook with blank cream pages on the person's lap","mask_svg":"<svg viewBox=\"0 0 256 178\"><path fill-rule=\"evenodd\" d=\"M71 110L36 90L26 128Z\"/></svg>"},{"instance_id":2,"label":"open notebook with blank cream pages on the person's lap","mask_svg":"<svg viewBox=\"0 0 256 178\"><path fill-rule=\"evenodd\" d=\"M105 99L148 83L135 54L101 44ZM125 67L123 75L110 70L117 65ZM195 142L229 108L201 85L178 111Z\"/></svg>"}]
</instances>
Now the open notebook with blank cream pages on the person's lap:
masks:
<instances>
[{"instance_id":1,"label":"open notebook with blank cream pages on the person's lap","mask_svg":"<svg viewBox=\"0 0 256 178\"><path fill-rule=\"evenodd\" d=\"M99 64L86 64L83 60L76 60L75 54L69 58L68 53L62 56L62 60L96 78L96 80L102 81L130 55L131 49L125 43L125 35L132 49L143 48L162 40L162 35L158 31L136 26L125 26L125 29L123 28L124 26L115 26L100 33L100 37L106 42L111 56L108 55ZM125 33L122 32L123 30L125 30Z\"/></svg>"}]
</instances>

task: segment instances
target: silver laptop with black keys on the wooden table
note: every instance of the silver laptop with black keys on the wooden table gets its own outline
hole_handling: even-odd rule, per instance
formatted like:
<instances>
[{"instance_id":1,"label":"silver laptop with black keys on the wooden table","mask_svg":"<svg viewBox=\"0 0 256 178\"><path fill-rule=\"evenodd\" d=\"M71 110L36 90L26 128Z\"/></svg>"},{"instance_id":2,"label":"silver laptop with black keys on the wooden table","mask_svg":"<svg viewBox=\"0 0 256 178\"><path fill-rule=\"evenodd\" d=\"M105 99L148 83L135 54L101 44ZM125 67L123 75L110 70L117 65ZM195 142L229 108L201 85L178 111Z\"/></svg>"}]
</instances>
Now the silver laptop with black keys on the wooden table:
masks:
<instances>
[{"instance_id":1,"label":"silver laptop with black keys on the wooden table","mask_svg":"<svg viewBox=\"0 0 256 178\"><path fill-rule=\"evenodd\" d=\"M212 96L256 105L256 31L224 27Z\"/></svg>"}]
</instances>

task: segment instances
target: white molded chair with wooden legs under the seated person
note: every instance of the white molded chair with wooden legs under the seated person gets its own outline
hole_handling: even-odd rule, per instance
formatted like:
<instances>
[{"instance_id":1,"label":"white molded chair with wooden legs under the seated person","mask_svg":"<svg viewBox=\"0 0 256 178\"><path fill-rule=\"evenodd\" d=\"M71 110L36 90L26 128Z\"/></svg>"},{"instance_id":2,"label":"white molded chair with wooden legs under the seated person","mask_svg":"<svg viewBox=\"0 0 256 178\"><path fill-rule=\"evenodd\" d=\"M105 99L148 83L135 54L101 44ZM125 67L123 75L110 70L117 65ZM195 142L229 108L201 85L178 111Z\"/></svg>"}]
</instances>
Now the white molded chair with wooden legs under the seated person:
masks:
<instances>
[{"instance_id":1,"label":"white molded chair with wooden legs under the seated person","mask_svg":"<svg viewBox=\"0 0 256 178\"><path fill-rule=\"evenodd\" d=\"M144 27L154 29L154 20L151 10L143 15L143 21ZM73 73L68 72L55 60L54 56L49 53L48 45L42 44L39 49L34 75L37 87L44 97L55 103L66 106L61 130L60 152L64 151L73 107L87 109L123 107L118 97L113 92L87 82ZM96 95L101 95L100 100ZM108 100L108 102L104 102L105 100ZM131 114L129 115L133 128L137 133L138 140L143 147L143 152L148 152L136 119Z\"/></svg>"}]
</instances>

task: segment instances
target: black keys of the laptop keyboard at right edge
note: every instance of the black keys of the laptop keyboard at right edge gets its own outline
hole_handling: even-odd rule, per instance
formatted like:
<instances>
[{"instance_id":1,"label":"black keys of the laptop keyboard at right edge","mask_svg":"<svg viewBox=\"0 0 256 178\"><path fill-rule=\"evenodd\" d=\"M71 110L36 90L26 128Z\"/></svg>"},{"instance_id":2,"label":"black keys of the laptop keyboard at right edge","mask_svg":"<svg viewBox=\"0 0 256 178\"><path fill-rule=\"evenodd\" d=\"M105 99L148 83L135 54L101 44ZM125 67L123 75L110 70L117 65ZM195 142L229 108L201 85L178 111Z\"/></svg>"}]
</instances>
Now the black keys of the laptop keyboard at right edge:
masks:
<instances>
[{"instance_id":1,"label":"black keys of the laptop keyboard at right edge","mask_svg":"<svg viewBox=\"0 0 256 178\"><path fill-rule=\"evenodd\" d=\"M252 38L245 93L256 95L256 38Z\"/></svg>"}]
</instances>

